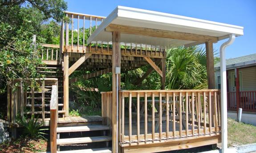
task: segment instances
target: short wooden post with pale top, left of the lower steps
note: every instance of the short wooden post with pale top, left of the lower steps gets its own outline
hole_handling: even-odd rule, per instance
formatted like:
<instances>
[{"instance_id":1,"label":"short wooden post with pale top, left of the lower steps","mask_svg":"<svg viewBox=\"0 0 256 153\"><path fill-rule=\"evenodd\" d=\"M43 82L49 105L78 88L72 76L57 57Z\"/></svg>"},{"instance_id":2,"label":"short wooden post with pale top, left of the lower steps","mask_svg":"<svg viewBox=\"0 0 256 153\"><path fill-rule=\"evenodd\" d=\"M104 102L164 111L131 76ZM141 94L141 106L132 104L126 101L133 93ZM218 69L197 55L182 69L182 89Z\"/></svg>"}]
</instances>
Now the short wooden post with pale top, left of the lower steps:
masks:
<instances>
[{"instance_id":1,"label":"short wooden post with pale top, left of the lower steps","mask_svg":"<svg viewBox=\"0 0 256 153\"><path fill-rule=\"evenodd\" d=\"M52 86L50 101L50 145L51 153L57 153L57 85Z\"/></svg>"}]
</instances>

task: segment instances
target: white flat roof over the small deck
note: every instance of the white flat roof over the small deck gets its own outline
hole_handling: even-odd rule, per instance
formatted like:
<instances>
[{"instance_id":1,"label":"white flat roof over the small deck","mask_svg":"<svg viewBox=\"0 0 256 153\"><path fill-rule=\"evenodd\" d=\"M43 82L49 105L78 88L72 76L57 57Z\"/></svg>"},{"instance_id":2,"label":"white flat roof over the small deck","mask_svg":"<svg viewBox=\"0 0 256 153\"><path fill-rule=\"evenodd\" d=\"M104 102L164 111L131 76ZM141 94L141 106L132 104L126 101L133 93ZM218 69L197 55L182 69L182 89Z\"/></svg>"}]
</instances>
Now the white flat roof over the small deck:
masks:
<instances>
[{"instance_id":1,"label":"white flat roof over the small deck","mask_svg":"<svg viewBox=\"0 0 256 153\"><path fill-rule=\"evenodd\" d=\"M244 27L201 20L186 16L172 15L138 8L118 6L102 24L89 36L87 42L98 41L97 35L105 32L109 24L155 28L159 30L180 31L200 35L217 36L224 39L226 35L243 35ZM106 35L107 32L105 32Z\"/></svg>"}]
</instances>

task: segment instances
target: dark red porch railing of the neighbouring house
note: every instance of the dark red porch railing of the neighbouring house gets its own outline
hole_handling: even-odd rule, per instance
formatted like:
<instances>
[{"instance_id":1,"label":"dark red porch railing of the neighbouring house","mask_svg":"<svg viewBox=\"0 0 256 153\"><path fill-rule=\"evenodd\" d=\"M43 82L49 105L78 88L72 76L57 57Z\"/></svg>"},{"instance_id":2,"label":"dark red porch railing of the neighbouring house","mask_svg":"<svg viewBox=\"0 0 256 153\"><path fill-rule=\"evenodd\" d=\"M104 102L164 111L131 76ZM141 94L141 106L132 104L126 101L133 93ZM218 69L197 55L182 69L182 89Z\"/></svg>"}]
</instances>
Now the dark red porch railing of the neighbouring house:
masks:
<instances>
[{"instance_id":1,"label":"dark red porch railing of the neighbouring house","mask_svg":"<svg viewBox=\"0 0 256 153\"><path fill-rule=\"evenodd\" d=\"M244 111L256 111L256 91L240 91L239 102L236 92L228 92L228 110L236 110L237 106Z\"/></svg>"}]
</instances>

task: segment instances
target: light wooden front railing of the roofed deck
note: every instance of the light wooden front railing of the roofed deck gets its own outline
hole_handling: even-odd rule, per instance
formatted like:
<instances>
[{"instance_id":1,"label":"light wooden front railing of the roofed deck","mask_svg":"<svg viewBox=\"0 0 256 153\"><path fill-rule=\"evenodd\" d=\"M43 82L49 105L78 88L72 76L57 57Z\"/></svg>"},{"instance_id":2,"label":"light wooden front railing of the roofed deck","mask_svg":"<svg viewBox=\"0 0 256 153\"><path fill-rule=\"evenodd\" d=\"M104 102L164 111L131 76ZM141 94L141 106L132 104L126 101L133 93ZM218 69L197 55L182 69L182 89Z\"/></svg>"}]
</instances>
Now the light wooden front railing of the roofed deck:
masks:
<instances>
[{"instance_id":1,"label":"light wooden front railing of the roofed deck","mask_svg":"<svg viewBox=\"0 0 256 153\"><path fill-rule=\"evenodd\" d=\"M121 146L220 133L219 90L121 90L119 93ZM102 107L106 110L106 106Z\"/></svg>"}]
</instances>

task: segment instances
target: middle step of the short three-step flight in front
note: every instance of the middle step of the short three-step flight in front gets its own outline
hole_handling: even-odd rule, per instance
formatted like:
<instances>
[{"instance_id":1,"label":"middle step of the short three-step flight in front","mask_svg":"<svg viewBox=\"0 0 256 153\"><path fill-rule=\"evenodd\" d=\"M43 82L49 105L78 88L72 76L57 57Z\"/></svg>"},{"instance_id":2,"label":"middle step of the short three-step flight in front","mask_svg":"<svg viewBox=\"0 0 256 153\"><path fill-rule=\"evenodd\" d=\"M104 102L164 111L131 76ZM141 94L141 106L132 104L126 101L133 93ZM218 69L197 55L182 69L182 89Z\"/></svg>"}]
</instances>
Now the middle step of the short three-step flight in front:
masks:
<instances>
[{"instance_id":1,"label":"middle step of the short three-step flight in front","mask_svg":"<svg viewBox=\"0 0 256 153\"><path fill-rule=\"evenodd\" d=\"M57 145L90 143L90 142L101 142L101 141L112 141L112 137L100 136L100 137L75 137L75 138L57 139Z\"/></svg>"}]
</instances>

